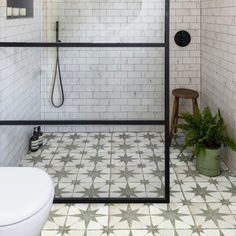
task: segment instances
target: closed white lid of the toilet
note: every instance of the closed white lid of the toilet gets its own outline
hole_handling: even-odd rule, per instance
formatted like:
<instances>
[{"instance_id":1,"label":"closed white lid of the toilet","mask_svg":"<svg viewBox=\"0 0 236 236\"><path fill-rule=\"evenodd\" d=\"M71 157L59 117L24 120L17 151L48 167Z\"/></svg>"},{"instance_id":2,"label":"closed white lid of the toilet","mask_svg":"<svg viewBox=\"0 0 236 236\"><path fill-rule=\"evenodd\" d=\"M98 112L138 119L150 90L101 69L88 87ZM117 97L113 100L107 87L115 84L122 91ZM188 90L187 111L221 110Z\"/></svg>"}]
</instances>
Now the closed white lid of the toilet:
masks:
<instances>
[{"instance_id":1,"label":"closed white lid of the toilet","mask_svg":"<svg viewBox=\"0 0 236 236\"><path fill-rule=\"evenodd\" d=\"M54 193L49 175L36 168L0 168L0 226L23 221L43 208Z\"/></svg>"}]
</instances>

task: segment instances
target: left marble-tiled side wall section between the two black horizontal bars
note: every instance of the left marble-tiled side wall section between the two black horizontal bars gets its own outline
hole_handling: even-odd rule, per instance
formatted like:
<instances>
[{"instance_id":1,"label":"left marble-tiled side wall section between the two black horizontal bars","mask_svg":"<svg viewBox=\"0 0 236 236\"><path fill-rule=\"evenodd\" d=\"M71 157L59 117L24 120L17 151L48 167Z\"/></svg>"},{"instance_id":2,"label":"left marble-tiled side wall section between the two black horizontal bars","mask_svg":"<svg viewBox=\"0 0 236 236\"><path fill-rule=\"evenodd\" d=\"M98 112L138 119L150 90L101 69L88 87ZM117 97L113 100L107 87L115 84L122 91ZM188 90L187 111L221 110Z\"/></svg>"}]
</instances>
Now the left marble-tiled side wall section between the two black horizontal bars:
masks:
<instances>
[{"instance_id":1,"label":"left marble-tiled side wall section between the two black horizontal bars","mask_svg":"<svg viewBox=\"0 0 236 236\"><path fill-rule=\"evenodd\" d=\"M0 120L40 120L41 49L0 51Z\"/></svg>"}]
</instances>

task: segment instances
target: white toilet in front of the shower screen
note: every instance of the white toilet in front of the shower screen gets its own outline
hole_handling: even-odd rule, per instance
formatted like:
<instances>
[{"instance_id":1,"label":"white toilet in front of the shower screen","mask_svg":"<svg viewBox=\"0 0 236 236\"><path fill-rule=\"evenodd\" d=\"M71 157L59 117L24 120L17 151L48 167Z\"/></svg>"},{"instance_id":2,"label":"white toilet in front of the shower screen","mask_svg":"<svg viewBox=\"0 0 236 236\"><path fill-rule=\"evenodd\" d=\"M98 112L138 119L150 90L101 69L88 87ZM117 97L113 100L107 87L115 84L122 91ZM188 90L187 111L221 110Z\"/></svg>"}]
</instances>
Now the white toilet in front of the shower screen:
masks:
<instances>
[{"instance_id":1,"label":"white toilet in front of the shower screen","mask_svg":"<svg viewBox=\"0 0 236 236\"><path fill-rule=\"evenodd\" d=\"M0 167L0 236L39 236L54 197L40 169Z\"/></svg>"}]
</instances>

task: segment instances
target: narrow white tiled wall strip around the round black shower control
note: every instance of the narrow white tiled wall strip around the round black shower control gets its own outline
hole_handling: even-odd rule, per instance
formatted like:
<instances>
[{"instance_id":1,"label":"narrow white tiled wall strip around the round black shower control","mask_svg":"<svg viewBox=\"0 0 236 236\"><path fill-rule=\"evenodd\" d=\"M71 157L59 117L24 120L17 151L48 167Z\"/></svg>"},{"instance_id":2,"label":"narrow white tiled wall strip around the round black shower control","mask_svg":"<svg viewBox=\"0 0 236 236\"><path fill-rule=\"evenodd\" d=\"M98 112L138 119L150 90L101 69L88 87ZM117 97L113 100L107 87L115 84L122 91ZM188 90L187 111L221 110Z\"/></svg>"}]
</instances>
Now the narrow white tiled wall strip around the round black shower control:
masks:
<instances>
[{"instance_id":1,"label":"narrow white tiled wall strip around the round black shower control","mask_svg":"<svg viewBox=\"0 0 236 236\"><path fill-rule=\"evenodd\" d=\"M170 0L170 88L190 88L200 92L200 0ZM187 47L179 47L174 36L179 30L191 35ZM171 96L172 110L173 96ZM190 109L182 100L180 111Z\"/></svg>"}]
</instances>

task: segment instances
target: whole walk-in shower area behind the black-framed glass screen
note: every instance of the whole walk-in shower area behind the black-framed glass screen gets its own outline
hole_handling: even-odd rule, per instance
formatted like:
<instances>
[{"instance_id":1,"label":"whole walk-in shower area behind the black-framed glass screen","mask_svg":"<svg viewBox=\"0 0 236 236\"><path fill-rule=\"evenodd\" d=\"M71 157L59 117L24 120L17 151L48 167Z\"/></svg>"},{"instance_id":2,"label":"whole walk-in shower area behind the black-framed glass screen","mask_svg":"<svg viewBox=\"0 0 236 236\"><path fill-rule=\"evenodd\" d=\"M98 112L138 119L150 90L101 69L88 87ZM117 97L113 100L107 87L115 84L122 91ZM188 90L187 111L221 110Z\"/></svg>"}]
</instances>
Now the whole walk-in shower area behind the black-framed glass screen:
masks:
<instances>
[{"instance_id":1,"label":"whole walk-in shower area behind the black-framed glass screen","mask_svg":"<svg viewBox=\"0 0 236 236\"><path fill-rule=\"evenodd\" d=\"M168 1L33 4L0 40L2 164L45 170L57 202L168 202Z\"/></svg>"}]
</instances>

